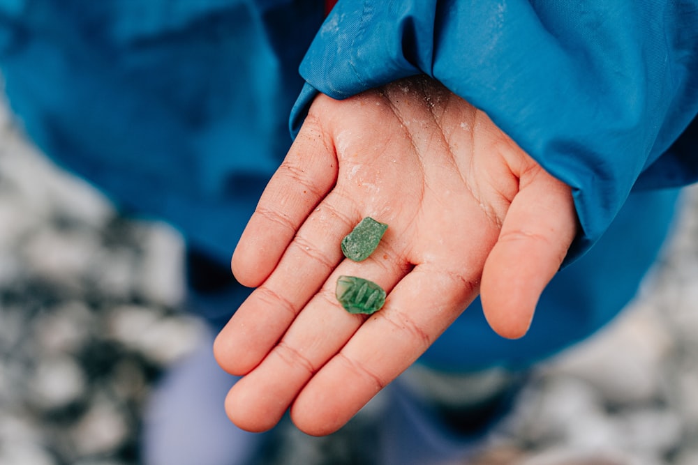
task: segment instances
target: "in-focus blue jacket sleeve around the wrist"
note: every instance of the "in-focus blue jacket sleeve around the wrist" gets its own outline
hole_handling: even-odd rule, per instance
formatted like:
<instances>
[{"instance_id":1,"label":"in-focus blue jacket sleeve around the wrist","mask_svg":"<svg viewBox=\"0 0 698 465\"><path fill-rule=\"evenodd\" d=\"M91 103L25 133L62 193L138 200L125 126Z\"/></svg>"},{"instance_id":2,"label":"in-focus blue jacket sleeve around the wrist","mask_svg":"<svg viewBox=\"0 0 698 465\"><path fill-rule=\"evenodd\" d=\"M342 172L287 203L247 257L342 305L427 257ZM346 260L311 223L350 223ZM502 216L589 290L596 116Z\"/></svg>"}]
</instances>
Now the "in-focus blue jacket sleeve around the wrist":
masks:
<instances>
[{"instance_id":1,"label":"in-focus blue jacket sleeve around the wrist","mask_svg":"<svg viewBox=\"0 0 698 465\"><path fill-rule=\"evenodd\" d=\"M302 62L291 127L318 91L438 79L572 187L569 263L636 184L698 177L697 50L697 1L340 0Z\"/></svg>"}]
</instances>

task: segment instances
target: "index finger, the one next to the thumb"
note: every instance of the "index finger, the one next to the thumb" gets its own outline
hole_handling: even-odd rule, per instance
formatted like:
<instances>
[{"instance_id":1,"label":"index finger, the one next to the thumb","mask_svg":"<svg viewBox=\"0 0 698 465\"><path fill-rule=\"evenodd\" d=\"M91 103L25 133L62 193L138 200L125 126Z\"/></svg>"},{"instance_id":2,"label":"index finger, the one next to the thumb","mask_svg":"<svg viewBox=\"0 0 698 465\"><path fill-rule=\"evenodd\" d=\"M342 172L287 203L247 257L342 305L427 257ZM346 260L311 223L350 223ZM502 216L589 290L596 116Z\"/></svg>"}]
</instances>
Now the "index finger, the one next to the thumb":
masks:
<instances>
[{"instance_id":1,"label":"index finger, the one next to the thumb","mask_svg":"<svg viewBox=\"0 0 698 465\"><path fill-rule=\"evenodd\" d=\"M291 418L311 435L342 427L414 363L477 295L479 275L420 265L389 294L351 340L307 383Z\"/></svg>"}]
</instances>

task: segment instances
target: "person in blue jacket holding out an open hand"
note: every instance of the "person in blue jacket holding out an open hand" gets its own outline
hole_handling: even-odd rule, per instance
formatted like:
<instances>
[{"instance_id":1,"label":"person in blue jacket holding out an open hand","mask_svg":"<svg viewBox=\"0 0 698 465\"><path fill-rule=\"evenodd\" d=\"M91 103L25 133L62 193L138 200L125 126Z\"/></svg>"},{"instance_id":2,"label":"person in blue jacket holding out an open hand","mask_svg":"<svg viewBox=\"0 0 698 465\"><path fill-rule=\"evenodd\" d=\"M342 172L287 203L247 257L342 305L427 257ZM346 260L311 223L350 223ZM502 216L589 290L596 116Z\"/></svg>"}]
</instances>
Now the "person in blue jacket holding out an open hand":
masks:
<instances>
[{"instance_id":1,"label":"person in blue jacket holding out an open hand","mask_svg":"<svg viewBox=\"0 0 698 465\"><path fill-rule=\"evenodd\" d=\"M696 2L57 3L0 2L10 105L47 154L181 229L252 432L290 410L329 434L383 390L373 461L466 454L512 380L628 303L696 178ZM343 260L369 215L378 250ZM249 296L219 273L237 238ZM340 274L385 307L343 312ZM214 419L232 379L194 360L156 396L147 461L254 460L258 436Z\"/></svg>"}]
</instances>

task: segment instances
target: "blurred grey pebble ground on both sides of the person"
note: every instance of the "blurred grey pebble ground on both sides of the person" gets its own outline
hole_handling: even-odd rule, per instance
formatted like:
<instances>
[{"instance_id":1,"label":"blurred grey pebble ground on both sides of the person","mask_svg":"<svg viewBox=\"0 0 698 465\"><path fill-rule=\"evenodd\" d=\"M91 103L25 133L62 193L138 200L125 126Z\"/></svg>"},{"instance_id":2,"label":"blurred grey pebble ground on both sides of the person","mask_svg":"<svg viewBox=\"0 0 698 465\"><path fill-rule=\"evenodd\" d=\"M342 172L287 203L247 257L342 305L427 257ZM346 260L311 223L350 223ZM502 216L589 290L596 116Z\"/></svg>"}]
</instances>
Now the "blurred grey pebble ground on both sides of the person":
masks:
<instances>
[{"instance_id":1,"label":"blurred grey pebble ground on both sides of the person","mask_svg":"<svg viewBox=\"0 0 698 465\"><path fill-rule=\"evenodd\" d=\"M689 189L634 304L537 369L477 465L698 464L697 213ZM0 105L0 465L138 463L145 399L202 335L182 249L51 165Z\"/></svg>"}]
</instances>

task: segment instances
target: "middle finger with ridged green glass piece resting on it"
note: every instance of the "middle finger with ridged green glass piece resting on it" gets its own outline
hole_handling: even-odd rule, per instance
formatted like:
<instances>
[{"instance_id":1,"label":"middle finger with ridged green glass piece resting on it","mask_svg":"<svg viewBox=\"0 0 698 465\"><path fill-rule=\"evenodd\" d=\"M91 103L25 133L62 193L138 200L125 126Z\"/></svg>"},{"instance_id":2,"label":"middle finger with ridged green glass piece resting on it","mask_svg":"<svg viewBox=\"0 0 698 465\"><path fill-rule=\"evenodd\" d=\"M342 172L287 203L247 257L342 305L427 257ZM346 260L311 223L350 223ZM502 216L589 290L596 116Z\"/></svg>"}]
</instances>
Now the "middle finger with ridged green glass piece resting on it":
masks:
<instances>
[{"instance_id":1,"label":"middle finger with ridged green glass piece resting on it","mask_svg":"<svg viewBox=\"0 0 698 465\"><path fill-rule=\"evenodd\" d=\"M376 255L379 258L360 265L344 261L279 344L230 390L225 406L236 425L257 432L273 427L309 379L362 325L366 316L346 312L336 299L336 280L340 275L361 273L389 290L407 273L394 255L388 258L385 250Z\"/></svg>"}]
</instances>

